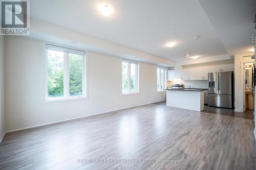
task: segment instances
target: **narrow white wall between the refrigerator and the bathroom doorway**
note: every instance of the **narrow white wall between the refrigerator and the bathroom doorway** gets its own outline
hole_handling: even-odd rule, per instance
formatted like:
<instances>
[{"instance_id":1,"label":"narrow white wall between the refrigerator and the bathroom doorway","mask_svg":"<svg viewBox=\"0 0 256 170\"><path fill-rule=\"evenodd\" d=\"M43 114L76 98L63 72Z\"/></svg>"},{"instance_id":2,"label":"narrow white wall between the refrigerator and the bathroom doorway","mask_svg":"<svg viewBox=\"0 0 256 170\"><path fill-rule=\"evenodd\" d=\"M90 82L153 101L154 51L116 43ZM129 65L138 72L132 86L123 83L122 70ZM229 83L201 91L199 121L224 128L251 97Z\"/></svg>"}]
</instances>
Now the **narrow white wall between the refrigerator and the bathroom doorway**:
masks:
<instances>
[{"instance_id":1,"label":"narrow white wall between the refrigerator and the bathroom doorway","mask_svg":"<svg viewBox=\"0 0 256 170\"><path fill-rule=\"evenodd\" d=\"M243 62L254 62L250 57L253 53L239 54L234 56L234 109L238 112L243 112L243 74L241 66Z\"/></svg>"}]
</instances>

